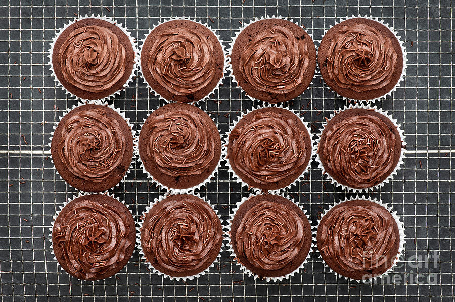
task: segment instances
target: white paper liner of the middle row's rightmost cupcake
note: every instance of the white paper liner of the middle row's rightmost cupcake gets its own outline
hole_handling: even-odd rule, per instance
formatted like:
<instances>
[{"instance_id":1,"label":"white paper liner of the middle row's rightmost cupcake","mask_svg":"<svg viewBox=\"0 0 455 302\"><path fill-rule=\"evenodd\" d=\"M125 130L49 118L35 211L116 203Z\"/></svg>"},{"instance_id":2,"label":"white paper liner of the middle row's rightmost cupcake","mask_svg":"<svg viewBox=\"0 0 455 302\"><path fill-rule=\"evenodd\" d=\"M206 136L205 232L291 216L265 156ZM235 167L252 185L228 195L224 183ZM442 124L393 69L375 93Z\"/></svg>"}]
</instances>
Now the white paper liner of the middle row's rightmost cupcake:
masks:
<instances>
[{"instance_id":1,"label":"white paper liner of the middle row's rightmost cupcake","mask_svg":"<svg viewBox=\"0 0 455 302\"><path fill-rule=\"evenodd\" d=\"M327 124L330 122L330 120L336 115L336 113L340 113L340 112L348 110L348 109L356 109L356 108L374 110L374 111L386 116L387 118L389 118L391 120L391 122L396 126L396 128L400 134L401 144L402 144L400 158L398 160L398 163L396 164L395 169L381 183L379 183L375 186L372 186L372 187L368 187L368 188L351 188L349 186L346 186L346 185L343 185L343 184L337 182L337 180L335 180L332 176L330 176L330 174L328 172L326 172L326 170L324 169L324 165L321 161L321 158L319 156L319 152L317 152L319 150L319 142L321 141L321 136L324 131L324 128L327 126ZM317 139L316 139L316 143L315 143L315 153L316 153L315 161L317 162L317 167L322 170L323 175L325 175L327 177L327 180L330 180L330 182L332 184L334 184L335 186L340 186L343 190L353 191L353 192L367 192L368 190L379 189L380 187L384 186L384 184L389 183L393 179L394 175L397 174L397 171L399 169L401 169L401 165L404 165L404 158L405 158L405 148L404 147L406 146L406 142L404 141L404 139L406 137L404 135L404 131L400 128L400 124L398 124L397 120L394 119L391 115L389 115L387 111L383 111L382 109L377 108L376 106L371 106L370 104L366 104L366 105L359 104L359 103L350 104L349 106L344 106L343 109L337 110L336 113L330 114L330 118L326 119L326 122L323 123L320 133L317 134Z\"/></svg>"}]
</instances>

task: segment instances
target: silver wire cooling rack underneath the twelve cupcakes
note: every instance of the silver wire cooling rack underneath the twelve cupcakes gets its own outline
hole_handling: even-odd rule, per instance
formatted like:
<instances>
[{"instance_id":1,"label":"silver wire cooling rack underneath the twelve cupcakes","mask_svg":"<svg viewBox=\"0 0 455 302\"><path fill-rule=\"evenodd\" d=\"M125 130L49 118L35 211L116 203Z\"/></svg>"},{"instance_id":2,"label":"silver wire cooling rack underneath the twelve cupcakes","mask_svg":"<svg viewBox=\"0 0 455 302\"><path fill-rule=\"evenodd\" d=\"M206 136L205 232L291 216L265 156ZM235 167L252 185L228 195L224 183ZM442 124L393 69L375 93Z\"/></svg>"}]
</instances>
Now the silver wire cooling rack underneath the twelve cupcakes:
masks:
<instances>
[{"instance_id":1,"label":"silver wire cooling rack underneath the twelve cupcakes","mask_svg":"<svg viewBox=\"0 0 455 302\"><path fill-rule=\"evenodd\" d=\"M4 1L5 5L6 1ZM317 252L306 271L289 280L265 283L242 273L223 248L219 263L198 279L163 279L148 271L138 252L115 277L82 282L69 277L53 259L47 237L52 216L76 194L56 175L48 142L53 124L76 104L56 87L47 51L56 29L85 14L114 17L138 40L168 17L196 17L218 30L225 45L235 30L254 17L281 15L304 25L317 41L345 16L372 15L393 26L405 43L408 67L401 87L378 102L406 134L404 168L393 182L367 194L390 203L404 221L404 260L383 284L358 284L338 278ZM0 294L5 301L299 301L302 300L453 300L455 206L452 205L455 97L452 66L455 10L450 1L385 0L10 0L0 9ZM318 76L288 104L311 122L316 133L333 110L346 104ZM256 102L234 88L227 76L219 92L201 107L212 112L221 134L241 111ZM311 101L311 102L310 102ZM113 103L136 129L151 110L163 105L138 77ZM259 103L260 104L260 103ZM138 164L113 190L134 215L164 194ZM215 180L199 190L223 219L249 192L223 165ZM315 222L318 215L351 194L334 188L313 162L304 182L291 187ZM455 216L453 216L455 217ZM433 251L436 251L434 254ZM425 261L427 259L427 261Z\"/></svg>"}]
</instances>

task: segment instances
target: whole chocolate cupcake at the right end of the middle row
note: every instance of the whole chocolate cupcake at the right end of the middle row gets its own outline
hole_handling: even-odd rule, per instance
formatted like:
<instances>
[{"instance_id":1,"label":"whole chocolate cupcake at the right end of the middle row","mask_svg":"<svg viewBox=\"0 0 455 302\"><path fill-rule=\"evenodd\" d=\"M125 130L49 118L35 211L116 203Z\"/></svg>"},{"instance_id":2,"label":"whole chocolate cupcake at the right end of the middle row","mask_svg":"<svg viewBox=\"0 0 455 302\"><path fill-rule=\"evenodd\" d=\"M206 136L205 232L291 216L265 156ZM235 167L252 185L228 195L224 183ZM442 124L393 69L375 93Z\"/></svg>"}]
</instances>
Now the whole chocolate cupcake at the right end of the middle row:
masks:
<instances>
[{"instance_id":1,"label":"whole chocolate cupcake at the right end of the middle row","mask_svg":"<svg viewBox=\"0 0 455 302\"><path fill-rule=\"evenodd\" d=\"M376 107L344 107L331 115L319 137L316 161L344 189L379 188L403 163L404 134L396 120Z\"/></svg>"}]
</instances>

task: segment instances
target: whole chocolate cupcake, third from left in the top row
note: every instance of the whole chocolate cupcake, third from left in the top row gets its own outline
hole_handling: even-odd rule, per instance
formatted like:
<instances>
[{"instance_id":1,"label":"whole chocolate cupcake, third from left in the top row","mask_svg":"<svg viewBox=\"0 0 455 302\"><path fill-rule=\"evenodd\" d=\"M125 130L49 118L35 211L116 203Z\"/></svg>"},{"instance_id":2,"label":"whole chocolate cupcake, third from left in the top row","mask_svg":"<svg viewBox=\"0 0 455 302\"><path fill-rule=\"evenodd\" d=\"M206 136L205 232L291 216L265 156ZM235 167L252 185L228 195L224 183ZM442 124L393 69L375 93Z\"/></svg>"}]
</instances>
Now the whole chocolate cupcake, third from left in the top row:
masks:
<instances>
[{"instance_id":1,"label":"whole chocolate cupcake, third from left in the top row","mask_svg":"<svg viewBox=\"0 0 455 302\"><path fill-rule=\"evenodd\" d=\"M281 18L251 20L231 43L231 74L251 99L280 103L311 83L316 48L306 31Z\"/></svg>"}]
</instances>

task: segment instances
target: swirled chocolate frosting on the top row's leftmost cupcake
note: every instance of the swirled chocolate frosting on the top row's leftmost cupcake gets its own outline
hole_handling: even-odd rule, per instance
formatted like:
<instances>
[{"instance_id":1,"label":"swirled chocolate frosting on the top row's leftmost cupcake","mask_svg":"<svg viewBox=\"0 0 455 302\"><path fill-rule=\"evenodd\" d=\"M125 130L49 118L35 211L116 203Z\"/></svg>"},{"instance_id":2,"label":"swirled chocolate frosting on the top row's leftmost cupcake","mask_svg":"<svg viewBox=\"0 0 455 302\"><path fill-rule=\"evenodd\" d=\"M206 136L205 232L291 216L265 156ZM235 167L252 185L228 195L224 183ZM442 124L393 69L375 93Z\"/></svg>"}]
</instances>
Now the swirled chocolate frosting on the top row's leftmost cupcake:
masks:
<instances>
[{"instance_id":1,"label":"swirled chocolate frosting on the top row's leftmost cupcake","mask_svg":"<svg viewBox=\"0 0 455 302\"><path fill-rule=\"evenodd\" d=\"M109 28L86 25L74 29L59 48L64 79L83 91L109 90L125 74L125 47Z\"/></svg>"}]
</instances>

